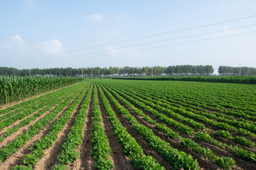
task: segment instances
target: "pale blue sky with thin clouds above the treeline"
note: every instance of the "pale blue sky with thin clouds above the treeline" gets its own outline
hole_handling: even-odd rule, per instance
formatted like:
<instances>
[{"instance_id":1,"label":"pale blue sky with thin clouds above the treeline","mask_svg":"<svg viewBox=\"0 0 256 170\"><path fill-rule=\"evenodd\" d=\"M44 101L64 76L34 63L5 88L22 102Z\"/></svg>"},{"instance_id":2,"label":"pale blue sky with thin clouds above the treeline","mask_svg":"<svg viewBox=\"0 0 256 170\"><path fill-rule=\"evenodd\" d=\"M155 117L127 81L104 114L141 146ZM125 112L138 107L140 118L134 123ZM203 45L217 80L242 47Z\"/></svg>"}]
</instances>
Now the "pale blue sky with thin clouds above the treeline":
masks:
<instances>
[{"instance_id":1,"label":"pale blue sky with thin clouds above the treeline","mask_svg":"<svg viewBox=\"0 0 256 170\"><path fill-rule=\"evenodd\" d=\"M256 67L256 1L0 0L0 67Z\"/></svg>"}]
</instances>

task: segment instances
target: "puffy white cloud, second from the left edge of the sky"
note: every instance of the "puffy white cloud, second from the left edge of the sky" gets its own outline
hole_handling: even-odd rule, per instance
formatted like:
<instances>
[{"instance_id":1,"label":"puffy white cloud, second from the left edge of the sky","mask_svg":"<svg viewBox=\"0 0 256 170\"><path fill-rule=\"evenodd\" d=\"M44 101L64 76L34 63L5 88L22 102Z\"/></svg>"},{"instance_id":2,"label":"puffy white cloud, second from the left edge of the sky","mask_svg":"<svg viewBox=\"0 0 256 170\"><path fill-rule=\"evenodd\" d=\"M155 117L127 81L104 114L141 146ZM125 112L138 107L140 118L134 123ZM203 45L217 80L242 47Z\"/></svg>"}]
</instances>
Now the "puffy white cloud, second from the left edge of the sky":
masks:
<instances>
[{"instance_id":1,"label":"puffy white cloud, second from the left edge of the sky","mask_svg":"<svg viewBox=\"0 0 256 170\"><path fill-rule=\"evenodd\" d=\"M65 52L62 43L56 39L35 43L35 48L41 50L47 55L55 55Z\"/></svg>"}]
</instances>

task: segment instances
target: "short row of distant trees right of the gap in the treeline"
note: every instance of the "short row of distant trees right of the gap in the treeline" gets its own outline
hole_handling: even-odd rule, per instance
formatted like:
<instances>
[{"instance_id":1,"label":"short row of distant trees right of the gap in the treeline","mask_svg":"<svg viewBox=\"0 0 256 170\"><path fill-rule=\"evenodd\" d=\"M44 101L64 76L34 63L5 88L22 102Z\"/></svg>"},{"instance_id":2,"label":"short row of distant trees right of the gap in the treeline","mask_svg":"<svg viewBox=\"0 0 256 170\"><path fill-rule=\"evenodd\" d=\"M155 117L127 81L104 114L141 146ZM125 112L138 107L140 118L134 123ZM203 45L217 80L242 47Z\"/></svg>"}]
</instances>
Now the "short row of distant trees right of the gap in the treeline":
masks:
<instances>
[{"instance_id":1,"label":"short row of distant trees right of the gap in the treeline","mask_svg":"<svg viewBox=\"0 0 256 170\"><path fill-rule=\"evenodd\" d=\"M256 68L220 66L218 67L218 73L221 75L256 75Z\"/></svg>"}]
</instances>

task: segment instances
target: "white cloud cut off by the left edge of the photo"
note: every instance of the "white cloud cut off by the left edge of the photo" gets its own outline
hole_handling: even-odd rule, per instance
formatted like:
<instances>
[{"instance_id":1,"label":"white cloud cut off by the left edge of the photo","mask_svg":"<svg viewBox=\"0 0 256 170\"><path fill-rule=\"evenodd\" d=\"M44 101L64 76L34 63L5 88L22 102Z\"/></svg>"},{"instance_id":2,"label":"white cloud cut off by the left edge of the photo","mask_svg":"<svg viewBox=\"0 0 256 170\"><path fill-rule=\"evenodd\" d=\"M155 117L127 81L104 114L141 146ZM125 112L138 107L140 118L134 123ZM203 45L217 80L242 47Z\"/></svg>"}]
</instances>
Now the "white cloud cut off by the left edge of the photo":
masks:
<instances>
[{"instance_id":1,"label":"white cloud cut off by the left edge of the photo","mask_svg":"<svg viewBox=\"0 0 256 170\"><path fill-rule=\"evenodd\" d=\"M15 51L25 51L27 49L26 43L23 41L19 34L8 37L4 43L1 43L1 46L5 49L11 49Z\"/></svg>"}]
</instances>

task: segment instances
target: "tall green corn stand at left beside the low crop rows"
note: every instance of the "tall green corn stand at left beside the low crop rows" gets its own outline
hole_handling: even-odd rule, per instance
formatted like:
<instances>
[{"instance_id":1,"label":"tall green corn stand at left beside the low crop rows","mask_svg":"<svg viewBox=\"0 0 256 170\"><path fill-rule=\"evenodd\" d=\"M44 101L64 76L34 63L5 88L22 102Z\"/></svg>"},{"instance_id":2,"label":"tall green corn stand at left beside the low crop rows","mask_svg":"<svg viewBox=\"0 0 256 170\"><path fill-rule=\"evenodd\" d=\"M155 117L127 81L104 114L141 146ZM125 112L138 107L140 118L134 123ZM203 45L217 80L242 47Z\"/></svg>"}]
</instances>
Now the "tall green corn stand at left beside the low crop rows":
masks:
<instances>
[{"instance_id":1,"label":"tall green corn stand at left beside the low crop rows","mask_svg":"<svg viewBox=\"0 0 256 170\"><path fill-rule=\"evenodd\" d=\"M78 78L0 76L0 106L79 82Z\"/></svg>"}]
</instances>

